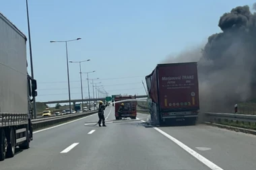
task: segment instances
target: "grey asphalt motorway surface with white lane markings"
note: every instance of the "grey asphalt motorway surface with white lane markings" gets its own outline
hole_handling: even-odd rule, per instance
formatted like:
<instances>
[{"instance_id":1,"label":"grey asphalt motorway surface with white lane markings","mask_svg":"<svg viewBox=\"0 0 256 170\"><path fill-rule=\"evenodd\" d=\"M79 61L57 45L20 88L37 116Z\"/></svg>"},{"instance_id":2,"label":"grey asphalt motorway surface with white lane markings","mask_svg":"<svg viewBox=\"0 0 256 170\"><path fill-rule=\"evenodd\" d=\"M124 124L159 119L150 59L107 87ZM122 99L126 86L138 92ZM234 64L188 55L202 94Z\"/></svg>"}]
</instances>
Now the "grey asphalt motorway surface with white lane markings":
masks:
<instances>
[{"instance_id":1,"label":"grey asphalt motorway surface with white lane markings","mask_svg":"<svg viewBox=\"0 0 256 170\"><path fill-rule=\"evenodd\" d=\"M0 162L1 169L255 169L253 135L206 125L153 128L143 122L147 114L115 120L113 110L105 111L107 127L93 126L94 114L35 132L30 148Z\"/></svg>"}]
</instances>

